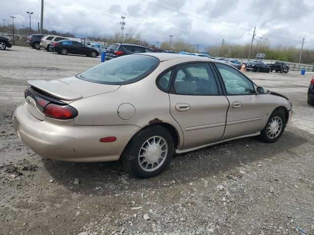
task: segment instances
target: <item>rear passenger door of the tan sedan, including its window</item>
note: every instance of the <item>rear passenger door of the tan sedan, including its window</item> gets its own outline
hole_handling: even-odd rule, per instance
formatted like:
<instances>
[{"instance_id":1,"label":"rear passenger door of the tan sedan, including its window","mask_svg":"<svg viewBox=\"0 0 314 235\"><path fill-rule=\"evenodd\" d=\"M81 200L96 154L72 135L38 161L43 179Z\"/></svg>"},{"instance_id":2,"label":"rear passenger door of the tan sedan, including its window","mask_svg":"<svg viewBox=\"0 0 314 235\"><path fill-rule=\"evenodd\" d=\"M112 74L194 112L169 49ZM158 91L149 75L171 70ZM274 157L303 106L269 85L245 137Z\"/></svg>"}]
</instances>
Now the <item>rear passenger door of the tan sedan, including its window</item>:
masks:
<instances>
[{"instance_id":1,"label":"rear passenger door of the tan sedan, including its window","mask_svg":"<svg viewBox=\"0 0 314 235\"><path fill-rule=\"evenodd\" d=\"M183 147L222 138L228 99L209 63L178 65L169 92L170 113L183 130Z\"/></svg>"}]
</instances>

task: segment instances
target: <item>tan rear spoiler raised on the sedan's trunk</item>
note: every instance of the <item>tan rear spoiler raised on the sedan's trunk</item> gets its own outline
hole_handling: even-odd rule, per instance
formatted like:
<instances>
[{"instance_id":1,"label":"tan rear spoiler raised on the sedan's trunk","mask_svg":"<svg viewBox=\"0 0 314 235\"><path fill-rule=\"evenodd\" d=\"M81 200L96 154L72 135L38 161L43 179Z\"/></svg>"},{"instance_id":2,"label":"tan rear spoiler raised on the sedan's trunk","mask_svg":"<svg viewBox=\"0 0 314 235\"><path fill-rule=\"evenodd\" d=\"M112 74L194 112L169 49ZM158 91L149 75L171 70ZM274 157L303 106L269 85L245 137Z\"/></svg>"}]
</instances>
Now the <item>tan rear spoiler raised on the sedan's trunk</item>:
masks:
<instances>
[{"instance_id":1,"label":"tan rear spoiler raised on the sedan's trunk","mask_svg":"<svg viewBox=\"0 0 314 235\"><path fill-rule=\"evenodd\" d=\"M81 94L56 86L47 80L28 80L27 82L38 90L61 100L76 100L83 97Z\"/></svg>"}]
</instances>

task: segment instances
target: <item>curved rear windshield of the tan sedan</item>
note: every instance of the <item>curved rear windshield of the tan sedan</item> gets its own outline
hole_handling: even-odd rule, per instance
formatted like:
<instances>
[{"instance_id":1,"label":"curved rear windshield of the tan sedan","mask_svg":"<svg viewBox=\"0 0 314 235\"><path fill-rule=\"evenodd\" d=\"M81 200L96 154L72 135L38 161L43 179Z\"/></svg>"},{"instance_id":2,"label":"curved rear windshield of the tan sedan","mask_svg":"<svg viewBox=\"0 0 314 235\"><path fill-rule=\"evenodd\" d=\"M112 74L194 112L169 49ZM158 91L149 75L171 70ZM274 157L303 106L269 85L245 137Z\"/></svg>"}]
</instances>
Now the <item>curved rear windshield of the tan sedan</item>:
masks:
<instances>
[{"instance_id":1,"label":"curved rear windshield of the tan sedan","mask_svg":"<svg viewBox=\"0 0 314 235\"><path fill-rule=\"evenodd\" d=\"M77 77L90 82L124 85L148 76L158 65L159 60L153 56L126 55L106 61Z\"/></svg>"}]
</instances>

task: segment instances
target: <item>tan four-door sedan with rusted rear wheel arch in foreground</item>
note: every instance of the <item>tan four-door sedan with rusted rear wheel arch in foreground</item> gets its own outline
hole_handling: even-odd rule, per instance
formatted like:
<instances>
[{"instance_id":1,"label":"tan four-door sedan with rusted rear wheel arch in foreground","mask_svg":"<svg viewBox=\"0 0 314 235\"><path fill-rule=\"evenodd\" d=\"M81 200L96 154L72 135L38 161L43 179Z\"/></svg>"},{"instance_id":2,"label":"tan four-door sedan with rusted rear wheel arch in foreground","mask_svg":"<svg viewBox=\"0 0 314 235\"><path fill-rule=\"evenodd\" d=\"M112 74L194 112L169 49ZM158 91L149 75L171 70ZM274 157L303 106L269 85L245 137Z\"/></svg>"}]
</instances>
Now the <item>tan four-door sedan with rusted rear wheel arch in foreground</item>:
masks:
<instances>
[{"instance_id":1,"label":"tan four-door sedan with rusted rear wheel arch in foreground","mask_svg":"<svg viewBox=\"0 0 314 235\"><path fill-rule=\"evenodd\" d=\"M121 158L139 178L162 172L174 153L252 136L275 142L292 113L287 97L197 56L132 54L28 83L13 126L33 151L70 162Z\"/></svg>"}]
</instances>

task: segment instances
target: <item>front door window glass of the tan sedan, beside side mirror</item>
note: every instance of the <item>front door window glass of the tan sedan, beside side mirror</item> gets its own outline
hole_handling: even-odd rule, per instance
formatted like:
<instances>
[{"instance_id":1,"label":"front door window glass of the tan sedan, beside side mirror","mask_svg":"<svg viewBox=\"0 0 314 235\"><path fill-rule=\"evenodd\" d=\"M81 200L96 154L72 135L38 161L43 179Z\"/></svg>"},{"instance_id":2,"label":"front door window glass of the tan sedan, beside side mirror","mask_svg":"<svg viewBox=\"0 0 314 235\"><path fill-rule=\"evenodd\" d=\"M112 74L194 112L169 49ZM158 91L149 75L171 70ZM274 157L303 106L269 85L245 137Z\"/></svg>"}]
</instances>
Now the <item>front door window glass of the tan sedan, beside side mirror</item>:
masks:
<instances>
[{"instance_id":1,"label":"front door window glass of the tan sedan, beside side mirror","mask_svg":"<svg viewBox=\"0 0 314 235\"><path fill-rule=\"evenodd\" d=\"M227 94L255 94L253 83L233 67L216 63Z\"/></svg>"}]
</instances>

